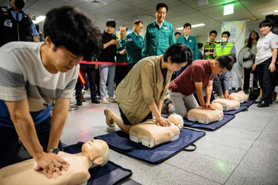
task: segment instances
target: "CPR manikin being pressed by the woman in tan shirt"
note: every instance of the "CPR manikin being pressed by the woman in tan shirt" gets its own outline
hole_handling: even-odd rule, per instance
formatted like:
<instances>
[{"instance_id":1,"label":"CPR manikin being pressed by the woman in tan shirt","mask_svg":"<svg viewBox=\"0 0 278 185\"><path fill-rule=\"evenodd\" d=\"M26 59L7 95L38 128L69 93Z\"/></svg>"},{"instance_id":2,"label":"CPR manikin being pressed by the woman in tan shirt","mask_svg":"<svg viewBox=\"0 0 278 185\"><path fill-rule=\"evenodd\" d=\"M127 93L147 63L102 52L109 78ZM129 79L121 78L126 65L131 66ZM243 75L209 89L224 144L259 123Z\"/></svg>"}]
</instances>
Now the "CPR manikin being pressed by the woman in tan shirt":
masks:
<instances>
[{"instance_id":1,"label":"CPR manikin being pressed by the woman in tan shirt","mask_svg":"<svg viewBox=\"0 0 278 185\"><path fill-rule=\"evenodd\" d=\"M158 126L152 119L132 126L129 130L130 140L150 148L177 140L183 127L182 116L174 113L168 119L171 122L170 127Z\"/></svg>"}]
</instances>

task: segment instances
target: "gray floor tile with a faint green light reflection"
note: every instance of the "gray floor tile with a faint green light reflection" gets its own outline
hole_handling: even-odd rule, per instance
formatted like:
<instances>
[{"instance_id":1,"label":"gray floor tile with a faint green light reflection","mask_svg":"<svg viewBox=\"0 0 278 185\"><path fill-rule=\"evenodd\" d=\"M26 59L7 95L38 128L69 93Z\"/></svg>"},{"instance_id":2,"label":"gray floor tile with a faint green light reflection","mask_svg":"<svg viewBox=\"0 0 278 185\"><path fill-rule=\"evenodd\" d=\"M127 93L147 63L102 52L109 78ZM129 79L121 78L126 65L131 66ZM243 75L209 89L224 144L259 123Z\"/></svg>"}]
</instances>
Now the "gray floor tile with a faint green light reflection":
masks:
<instances>
[{"instance_id":1,"label":"gray floor tile with a faint green light reflection","mask_svg":"<svg viewBox=\"0 0 278 185\"><path fill-rule=\"evenodd\" d=\"M237 166L199 153L186 151L178 153L168 159L166 163L220 184L226 182Z\"/></svg>"}]
</instances>

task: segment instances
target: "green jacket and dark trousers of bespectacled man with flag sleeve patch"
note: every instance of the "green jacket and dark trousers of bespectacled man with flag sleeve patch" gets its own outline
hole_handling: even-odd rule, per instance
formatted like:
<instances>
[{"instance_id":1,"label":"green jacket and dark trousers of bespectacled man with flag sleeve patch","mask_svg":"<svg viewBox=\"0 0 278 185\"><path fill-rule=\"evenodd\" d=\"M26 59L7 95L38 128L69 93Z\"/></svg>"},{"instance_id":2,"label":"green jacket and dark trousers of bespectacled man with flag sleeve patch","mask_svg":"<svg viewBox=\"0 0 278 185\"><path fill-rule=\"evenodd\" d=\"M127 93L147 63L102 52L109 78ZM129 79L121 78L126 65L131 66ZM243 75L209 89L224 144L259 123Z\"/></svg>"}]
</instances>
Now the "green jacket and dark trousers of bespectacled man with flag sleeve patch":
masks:
<instances>
[{"instance_id":1,"label":"green jacket and dark trousers of bespectacled man with flag sleeve patch","mask_svg":"<svg viewBox=\"0 0 278 185\"><path fill-rule=\"evenodd\" d=\"M134 32L126 37L127 61L129 71L132 67L142 59L143 37Z\"/></svg>"}]
</instances>

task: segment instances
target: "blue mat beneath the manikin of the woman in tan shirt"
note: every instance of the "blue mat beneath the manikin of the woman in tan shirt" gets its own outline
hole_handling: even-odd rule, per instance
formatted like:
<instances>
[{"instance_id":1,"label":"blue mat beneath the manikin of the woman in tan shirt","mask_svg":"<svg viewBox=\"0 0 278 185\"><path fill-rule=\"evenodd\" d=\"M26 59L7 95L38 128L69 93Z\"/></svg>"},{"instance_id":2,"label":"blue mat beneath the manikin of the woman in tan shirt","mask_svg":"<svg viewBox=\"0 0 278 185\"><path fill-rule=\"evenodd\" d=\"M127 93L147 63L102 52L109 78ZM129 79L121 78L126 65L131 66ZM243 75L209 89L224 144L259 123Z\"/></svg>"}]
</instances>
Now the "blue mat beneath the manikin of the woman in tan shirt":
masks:
<instances>
[{"instance_id":1,"label":"blue mat beneath the manikin of the woman in tan shirt","mask_svg":"<svg viewBox=\"0 0 278 185\"><path fill-rule=\"evenodd\" d=\"M158 164L182 150L193 151L194 149L187 150L186 148L190 145L196 148L193 143L205 136L205 134L206 133L202 131L183 128L180 132L180 137L178 140L164 143L153 148L145 147L140 143L135 143L129 140L129 136L121 130L102 136L97 136L95 139L106 141L110 149L124 155L147 162L149 164Z\"/></svg>"}]
</instances>

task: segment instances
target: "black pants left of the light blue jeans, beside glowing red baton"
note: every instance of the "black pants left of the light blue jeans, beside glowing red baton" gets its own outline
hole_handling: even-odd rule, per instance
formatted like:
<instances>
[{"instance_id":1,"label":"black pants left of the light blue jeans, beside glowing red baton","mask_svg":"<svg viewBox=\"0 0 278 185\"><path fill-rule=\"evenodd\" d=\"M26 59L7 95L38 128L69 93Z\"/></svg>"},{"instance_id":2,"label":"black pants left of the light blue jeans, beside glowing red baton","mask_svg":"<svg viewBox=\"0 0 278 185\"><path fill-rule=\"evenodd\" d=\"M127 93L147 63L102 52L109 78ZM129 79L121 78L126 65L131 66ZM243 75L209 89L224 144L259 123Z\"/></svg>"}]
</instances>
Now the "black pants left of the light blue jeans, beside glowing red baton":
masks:
<instances>
[{"instance_id":1,"label":"black pants left of the light blue jeans, beside glowing red baton","mask_svg":"<svg viewBox=\"0 0 278 185\"><path fill-rule=\"evenodd\" d=\"M85 73L87 73L91 91L91 99L96 99L96 65L94 64L80 64L80 73L83 78L85 78ZM78 77L76 86L75 86L75 95L76 100L81 101L81 93L83 89L83 84L81 79Z\"/></svg>"}]
</instances>

